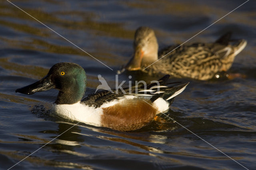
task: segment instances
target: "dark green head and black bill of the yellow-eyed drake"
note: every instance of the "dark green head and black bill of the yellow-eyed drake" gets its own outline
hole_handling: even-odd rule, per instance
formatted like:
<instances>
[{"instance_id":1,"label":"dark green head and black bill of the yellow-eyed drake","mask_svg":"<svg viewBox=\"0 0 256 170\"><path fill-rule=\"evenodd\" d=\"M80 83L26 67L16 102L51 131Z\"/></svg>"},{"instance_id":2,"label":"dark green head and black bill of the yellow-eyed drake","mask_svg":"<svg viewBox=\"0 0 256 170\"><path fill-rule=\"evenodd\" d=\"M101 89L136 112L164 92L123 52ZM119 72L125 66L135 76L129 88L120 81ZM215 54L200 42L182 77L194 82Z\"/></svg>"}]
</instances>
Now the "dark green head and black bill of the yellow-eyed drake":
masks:
<instances>
[{"instance_id":1,"label":"dark green head and black bill of the yellow-eyed drake","mask_svg":"<svg viewBox=\"0 0 256 170\"><path fill-rule=\"evenodd\" d=\"M56 104L74 104L81 101L86 89L84 69L75 63L57 63L39 81L16 89L16 92L32 95L36 92L58 89Z\"/></svg>"}]
</instances>

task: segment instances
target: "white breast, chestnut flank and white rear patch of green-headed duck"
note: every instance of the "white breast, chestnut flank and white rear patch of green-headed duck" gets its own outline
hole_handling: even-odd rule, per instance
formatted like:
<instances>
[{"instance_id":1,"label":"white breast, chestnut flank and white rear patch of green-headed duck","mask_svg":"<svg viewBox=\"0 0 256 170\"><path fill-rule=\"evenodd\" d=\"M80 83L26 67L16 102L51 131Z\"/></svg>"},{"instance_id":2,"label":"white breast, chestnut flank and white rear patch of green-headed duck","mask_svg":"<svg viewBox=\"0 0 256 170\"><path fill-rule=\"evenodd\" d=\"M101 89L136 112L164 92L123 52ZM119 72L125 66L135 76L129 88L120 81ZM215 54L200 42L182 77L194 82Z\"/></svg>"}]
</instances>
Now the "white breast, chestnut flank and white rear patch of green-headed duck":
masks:
<instances>
[{"instance_id":1,"label":"white breast, chestnut flank and white rear patch of green-headed duck","mask_svg":"<svg viewBox=\"0 0 256 170\"><path fill-rule=\"evenodd\" d=\"M169 109L168 102L162 100L159 105L159 101L161 99L152 103L141 97L126 96L123 99L106 102L100 107L86 105L83 101L72 105L53 104L51 112L65 119L88 125L131 131L144 127L153 121L158 113Z\"/></svg>"}]
</instances>

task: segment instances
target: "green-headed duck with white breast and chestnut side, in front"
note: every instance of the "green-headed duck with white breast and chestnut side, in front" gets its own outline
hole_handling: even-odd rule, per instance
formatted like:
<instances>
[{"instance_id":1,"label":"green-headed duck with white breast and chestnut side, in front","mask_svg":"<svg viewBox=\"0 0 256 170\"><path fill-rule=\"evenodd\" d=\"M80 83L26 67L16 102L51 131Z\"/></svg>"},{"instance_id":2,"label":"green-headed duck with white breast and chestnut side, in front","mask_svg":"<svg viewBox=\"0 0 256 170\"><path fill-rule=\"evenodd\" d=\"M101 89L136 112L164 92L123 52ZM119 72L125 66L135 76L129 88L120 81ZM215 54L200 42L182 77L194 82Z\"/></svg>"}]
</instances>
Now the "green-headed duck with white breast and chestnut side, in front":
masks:
<instances>
[{"instance_id":1,"label":"green-headed duck with white breast and chestnut side, in front","mask_svg":"<svg viewBox=\"0 0 256 170\"><path fill-rule=\"evenodd\" d=\"M84 69L75 63L57 63L44 78L16 92L31 95L58 89L52 106L52 112L58 116L98 127L131 131L142 128L157 114L168 110L174 97L188 85L164 84L168 78L166 75L155 83L137 86L138 93L135 87L124 89L127 94L112 89L113 93L101 91L82 99L86 90Z\"/></svg>"}]
</instances>

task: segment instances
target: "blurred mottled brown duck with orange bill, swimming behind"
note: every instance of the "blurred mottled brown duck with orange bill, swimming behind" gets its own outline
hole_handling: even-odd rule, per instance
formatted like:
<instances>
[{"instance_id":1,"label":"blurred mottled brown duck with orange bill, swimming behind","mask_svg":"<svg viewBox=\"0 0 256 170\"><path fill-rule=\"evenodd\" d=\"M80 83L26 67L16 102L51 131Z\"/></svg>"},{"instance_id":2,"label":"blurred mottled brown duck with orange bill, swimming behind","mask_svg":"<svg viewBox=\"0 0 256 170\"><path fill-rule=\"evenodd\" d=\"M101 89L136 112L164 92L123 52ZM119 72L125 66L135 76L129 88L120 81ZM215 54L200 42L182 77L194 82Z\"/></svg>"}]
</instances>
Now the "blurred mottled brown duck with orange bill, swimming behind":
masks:
<instances>
[{"instance_id":1,"label":"blurred mottled brown duck with orange bill, swimming behind","mask_svg":"<svg viewBox=\"0 0 256 170\"><path fill-rule=\"evenodd\" d=\"M227 71L235 56L246 46L246 40L230 40L230 36L229 32L214 43L189 43L180 47L172 45L158 52L154 31L140 27L134 36L134 55L122 71L141 69L150 74L164 73L178 78L208 80L218 72Z\"/></svg>"}]
</instances>

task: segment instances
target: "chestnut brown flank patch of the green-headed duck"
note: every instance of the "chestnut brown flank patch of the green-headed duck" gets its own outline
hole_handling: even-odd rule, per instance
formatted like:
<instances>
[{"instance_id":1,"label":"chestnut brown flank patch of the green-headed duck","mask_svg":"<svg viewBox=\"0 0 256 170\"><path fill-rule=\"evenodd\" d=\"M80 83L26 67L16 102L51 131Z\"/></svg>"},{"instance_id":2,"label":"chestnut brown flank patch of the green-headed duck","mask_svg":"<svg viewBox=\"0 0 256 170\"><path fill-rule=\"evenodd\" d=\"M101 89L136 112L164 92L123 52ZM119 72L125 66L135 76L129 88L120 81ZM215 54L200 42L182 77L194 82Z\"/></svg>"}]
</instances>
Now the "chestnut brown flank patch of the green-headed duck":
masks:
<instances>
[{"instance_id":1,"label":"chestnut brown flank patch of the green-headed duck","mask_svg":"<svg viewBox=\"0 0 256 170\"><path fill-rule=\"evenodd\" d=\"M126 99L113 106L105 107L101 116L102 127L115 130L131 131L144 127L154 120L157 109L145 99ZM149 105L149 104L151 105Z\"/></svg>"}]
</instances>

